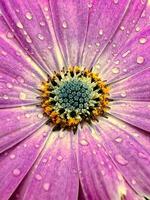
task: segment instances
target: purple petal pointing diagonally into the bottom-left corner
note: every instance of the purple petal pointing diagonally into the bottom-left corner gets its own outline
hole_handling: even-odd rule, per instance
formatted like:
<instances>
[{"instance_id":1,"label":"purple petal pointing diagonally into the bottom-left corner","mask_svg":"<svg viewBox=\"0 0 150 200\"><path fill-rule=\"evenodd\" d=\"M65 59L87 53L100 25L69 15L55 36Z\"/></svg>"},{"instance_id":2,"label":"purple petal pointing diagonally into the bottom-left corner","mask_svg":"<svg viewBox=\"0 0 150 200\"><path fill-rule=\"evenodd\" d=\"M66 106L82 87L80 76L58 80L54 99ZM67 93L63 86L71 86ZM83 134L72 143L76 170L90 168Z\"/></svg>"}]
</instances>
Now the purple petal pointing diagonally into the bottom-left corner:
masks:
<instances>
[{"instance_id":1,"label":"purple petal pointing diagonally into the bottom-left corner","mask_svg":"<svg viewBox=\"0 0 150 200\"><path fill-rule=\"evenodd\" d=\"M49 128L44 126L13 149L1 154L1 199L9 199L24 176L30 170L44 146L44 143L47 139L47 137L45 137L45 132L47 131L49 131Z\"/></svg>"}]
</instances>

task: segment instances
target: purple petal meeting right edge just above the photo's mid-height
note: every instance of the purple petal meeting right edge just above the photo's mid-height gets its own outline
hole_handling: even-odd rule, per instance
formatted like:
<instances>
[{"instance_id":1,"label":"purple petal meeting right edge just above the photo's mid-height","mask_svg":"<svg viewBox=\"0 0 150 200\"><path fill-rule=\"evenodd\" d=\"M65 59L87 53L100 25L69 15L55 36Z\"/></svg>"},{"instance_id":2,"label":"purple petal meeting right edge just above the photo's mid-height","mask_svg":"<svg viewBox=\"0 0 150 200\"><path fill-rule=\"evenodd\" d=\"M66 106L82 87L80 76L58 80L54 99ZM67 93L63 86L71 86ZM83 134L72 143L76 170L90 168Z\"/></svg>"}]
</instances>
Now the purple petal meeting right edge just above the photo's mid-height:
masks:
<instances>
[{"instance_id":1,"label":"purple petal meeting right edge just above the photo's mid-height","mask_svg":"<svg viewBox=\"0 0 150 200\"><path fill-rule=\"evenodd\" d=\"M150 100L150 68L130 78L113 83L110 95L113 99L147 101Z\"/></svg>"}]
</instances>

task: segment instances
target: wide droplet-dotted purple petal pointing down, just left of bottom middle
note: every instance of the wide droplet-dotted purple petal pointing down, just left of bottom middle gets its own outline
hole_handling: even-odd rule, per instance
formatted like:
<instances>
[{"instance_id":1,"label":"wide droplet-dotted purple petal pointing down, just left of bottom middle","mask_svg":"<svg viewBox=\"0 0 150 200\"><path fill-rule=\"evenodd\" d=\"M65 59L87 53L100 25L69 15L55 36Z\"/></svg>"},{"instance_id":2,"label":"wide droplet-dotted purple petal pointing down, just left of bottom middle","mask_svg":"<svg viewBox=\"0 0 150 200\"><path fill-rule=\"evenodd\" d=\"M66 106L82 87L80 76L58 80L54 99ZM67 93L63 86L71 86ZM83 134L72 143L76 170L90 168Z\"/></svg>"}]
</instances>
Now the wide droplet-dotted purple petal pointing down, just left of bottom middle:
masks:
<instances>
[{"instance_id":1,"label":"wide droplet-dotted purple petal pointing down, just left of bottom middle","mask_svg":"<svg viewBox=\"0 0 150 200\"><path fill-rule=\"evenodd\" d=\"M59 133L62 134L61 132ZM27 178L16 192L22 200L70 199L78 197L78 173L70 134L53 133Z\"/></svg>"}]
</instances>

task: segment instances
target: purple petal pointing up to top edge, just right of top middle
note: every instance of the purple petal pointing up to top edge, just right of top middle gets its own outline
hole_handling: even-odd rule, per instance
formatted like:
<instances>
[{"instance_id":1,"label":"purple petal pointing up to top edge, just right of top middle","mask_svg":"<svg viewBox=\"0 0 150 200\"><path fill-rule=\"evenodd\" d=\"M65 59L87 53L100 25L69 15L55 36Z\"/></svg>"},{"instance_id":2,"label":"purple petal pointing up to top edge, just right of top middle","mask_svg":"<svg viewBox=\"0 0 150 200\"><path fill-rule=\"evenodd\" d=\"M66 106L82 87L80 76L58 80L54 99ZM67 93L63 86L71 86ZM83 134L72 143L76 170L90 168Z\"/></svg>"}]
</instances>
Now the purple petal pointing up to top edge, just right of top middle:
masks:
<instances>
[{"instance_id":1,"label":"purple petal pointing up to top edge, just right of top middle","mask_svg":"<svg viewBox=\"0 0 150 200\"><path fill-rule=\"evenodd\" d=\"M130 0L92 1L83 54L83 65L93 67L134 5ZM133 13L132 13L133 14Z\"/></svg>"}]
</instances>

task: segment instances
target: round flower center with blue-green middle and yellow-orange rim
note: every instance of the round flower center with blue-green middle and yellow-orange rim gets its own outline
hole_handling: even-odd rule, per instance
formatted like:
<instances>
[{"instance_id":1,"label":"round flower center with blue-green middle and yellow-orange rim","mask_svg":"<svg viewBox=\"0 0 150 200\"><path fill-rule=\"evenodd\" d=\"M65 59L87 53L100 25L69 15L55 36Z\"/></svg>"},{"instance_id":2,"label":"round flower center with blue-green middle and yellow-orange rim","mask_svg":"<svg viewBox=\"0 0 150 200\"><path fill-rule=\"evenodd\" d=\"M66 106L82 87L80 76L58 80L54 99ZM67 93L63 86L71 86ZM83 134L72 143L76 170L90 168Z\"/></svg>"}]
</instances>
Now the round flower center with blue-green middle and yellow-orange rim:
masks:
<instances>
[{"instance_id":1,"label":"round flower center with blue-green middle and yellow-orange rim","mask_svg":"<svg viewBox=\"0 0 150 200\"><path fill-rule=\"evenodd\" d=\"M79 123L104 116L109 103L109 88L97 73L78 66L54 73L41 86L41 106L53 130L73 129Z\"/></svg>"}]
</instances>

